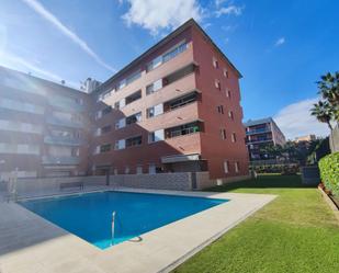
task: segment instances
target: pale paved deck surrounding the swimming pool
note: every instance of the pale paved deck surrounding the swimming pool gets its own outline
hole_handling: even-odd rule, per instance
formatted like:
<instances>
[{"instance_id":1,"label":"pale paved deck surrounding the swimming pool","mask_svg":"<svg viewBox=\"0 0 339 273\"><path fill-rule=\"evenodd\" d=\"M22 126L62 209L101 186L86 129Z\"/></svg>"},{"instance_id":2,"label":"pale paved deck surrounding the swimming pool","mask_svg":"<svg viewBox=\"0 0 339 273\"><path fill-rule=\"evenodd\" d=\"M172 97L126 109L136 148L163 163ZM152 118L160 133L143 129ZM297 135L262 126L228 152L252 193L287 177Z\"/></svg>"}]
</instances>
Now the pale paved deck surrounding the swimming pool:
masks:
<instances>
[{"instance_id":1,"label":"pale paved deck surrounding the swimming pool","mask_svg":"<svg viewBox=\"0 0 339 273\"><path fill-rule=\"evenodd\" d=\"M114 191L226 198L230 202L151 230L142 235L140 240L100 250L15 203L0 201L0 272L170 272L275 198L275 195L268 194Z\"/></svg>"}]
</instances>

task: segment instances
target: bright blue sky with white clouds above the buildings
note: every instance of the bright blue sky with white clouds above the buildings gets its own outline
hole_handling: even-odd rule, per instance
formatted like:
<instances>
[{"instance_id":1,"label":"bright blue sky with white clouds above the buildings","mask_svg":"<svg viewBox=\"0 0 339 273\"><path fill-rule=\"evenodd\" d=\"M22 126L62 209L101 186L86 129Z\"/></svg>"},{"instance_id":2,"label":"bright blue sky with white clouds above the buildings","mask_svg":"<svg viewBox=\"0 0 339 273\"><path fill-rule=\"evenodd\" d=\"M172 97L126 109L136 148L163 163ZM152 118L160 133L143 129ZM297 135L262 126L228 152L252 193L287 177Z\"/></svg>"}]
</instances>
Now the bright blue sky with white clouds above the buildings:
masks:
<instances>
[{"instance_id":1,"label":"bright blue sky with white clouds above the buildings","mask_svg":"<svg viewBox=\"0 0 339 273\"><path fill-rule=\"evenodd\" d=\"M242 73L244 121L289 139L328 135L309 115L339 66L337 0L0 0L0 66L79 88L104 81L194 18Z\"/></svg>"}]
</instances>

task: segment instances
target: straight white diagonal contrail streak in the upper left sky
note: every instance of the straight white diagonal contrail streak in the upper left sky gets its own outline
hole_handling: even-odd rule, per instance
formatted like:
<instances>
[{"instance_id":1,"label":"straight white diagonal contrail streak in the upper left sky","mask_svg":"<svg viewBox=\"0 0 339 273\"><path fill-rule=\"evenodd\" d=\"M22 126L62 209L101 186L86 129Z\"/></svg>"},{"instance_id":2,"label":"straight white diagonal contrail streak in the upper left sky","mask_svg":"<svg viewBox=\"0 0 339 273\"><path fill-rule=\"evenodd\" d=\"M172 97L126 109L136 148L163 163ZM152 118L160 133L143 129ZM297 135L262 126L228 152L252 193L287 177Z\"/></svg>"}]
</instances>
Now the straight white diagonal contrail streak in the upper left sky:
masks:
<instances>
[{"instance_id":1,"label":"straight white diagonal contrail streak in the upper left sky","mask_svg":"<svg viewBox=\"0 0 339 273\"><path fill-rule=\"evenodd\" d=\"M81 39L75 32L69 30L66 25L64 25L53 13L44 8L36 0L22 0L25 2L31 9L33 9L37 14L39 14L43 19L54 25L59 32L70 38L75 44L80 46L80 48L86 52L89 56L91 56L99 65L104 68L111 70L112 72L116 72L114 68L110 65L105 64L89 46L88 44Z\"/></svg>"}]
</instances>

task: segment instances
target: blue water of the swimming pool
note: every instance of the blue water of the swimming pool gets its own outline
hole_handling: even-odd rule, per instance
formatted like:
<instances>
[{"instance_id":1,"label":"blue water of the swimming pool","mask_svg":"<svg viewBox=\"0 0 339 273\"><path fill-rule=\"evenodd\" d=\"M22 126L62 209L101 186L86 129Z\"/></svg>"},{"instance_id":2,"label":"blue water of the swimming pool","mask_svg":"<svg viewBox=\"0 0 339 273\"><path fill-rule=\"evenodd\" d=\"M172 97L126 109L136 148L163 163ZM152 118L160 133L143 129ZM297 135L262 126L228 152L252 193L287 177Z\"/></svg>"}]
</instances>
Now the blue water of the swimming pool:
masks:
<instances>
[{"instance_id":1,"label":"blue water of the swimming pool","mask_svg":"<svg viewBox=\"0 0 339 273\"><path fill-rule=\"evenodd\" d=\"M116 244L225 202L227 200L101 192L26 201L20 204L98 248L105 249L112 246L113 211L113 244Z\"/></svg>"}]
</instances>

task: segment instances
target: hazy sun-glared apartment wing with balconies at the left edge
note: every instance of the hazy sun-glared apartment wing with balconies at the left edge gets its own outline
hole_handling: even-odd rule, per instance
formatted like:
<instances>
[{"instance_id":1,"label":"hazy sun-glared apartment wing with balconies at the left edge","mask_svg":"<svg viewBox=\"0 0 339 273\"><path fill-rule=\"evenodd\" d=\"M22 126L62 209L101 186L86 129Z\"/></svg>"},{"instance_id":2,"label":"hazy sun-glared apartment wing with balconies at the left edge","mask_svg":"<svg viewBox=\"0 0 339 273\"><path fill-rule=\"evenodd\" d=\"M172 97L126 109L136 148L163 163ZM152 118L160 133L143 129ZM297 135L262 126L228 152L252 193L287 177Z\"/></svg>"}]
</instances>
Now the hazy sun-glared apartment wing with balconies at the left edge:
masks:
<instances>
[{"instance_id":1,"label":"hazy sun-glared apartment wing with balconies at the left edge","mask_svg":"<svg viewBox=\"0 0 339 273\"><path fill-rule=\"evenodd\" d=\"M89 99L0 67L0 180L86 174Z\"/></svg>"}]
</instances>

